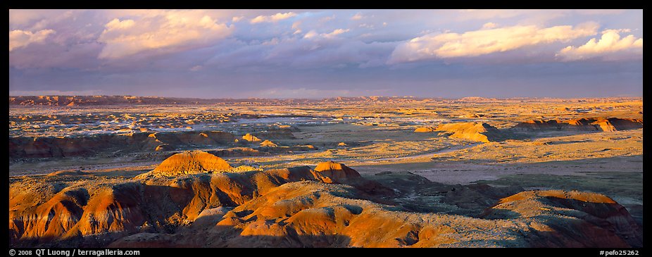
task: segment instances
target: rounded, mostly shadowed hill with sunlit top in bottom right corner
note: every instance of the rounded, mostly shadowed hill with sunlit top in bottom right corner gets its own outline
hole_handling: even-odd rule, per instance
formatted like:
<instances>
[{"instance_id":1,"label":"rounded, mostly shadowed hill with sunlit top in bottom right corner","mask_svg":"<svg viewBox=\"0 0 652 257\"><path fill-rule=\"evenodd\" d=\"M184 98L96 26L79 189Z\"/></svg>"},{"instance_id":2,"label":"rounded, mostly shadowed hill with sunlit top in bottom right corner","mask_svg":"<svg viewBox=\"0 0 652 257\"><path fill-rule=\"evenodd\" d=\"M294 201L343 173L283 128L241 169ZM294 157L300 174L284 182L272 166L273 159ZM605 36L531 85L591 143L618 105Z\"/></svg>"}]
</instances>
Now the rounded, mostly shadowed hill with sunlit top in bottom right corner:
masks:
<instances>
[{"instance_id":1,"label":"rounded, mostly shadowed hill with sunlit top in bottom right corner","mask_svg":"<svg viewBox=\"0 0 652 257\"><path fill-rule=\"evenodd\" d=\"M643 246L642 231L627 209L592 192L521 192L501 199L481 217L525 220L534 247Z\"/></svg>"}]
</instances>

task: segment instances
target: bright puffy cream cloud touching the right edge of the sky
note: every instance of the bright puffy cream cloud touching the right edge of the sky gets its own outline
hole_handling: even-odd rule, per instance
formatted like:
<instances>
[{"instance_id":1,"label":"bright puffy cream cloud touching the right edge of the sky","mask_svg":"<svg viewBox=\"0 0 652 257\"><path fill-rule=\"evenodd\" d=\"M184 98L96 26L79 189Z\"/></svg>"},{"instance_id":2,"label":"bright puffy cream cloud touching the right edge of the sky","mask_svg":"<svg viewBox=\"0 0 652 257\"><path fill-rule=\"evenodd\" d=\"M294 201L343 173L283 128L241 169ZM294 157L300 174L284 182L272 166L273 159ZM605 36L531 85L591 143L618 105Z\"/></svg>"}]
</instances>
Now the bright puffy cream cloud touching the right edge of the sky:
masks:
<instances>
[{"instance_id":1,"label":"bright puffy cream cloud touching the right edge of the sky","mask_svg":"<svg viewBox=\"0 0 652 257\"><path fill-rule=\"evenodd\" d=\"M605 30L601 39L592 38L582 46L566 46L556 55L563 61L576 61L586 58L603 57L608 60L620 60L643 57L643 38L628 35L620 37L619 32L630 30Z\"/></svg>"}]
</instances>

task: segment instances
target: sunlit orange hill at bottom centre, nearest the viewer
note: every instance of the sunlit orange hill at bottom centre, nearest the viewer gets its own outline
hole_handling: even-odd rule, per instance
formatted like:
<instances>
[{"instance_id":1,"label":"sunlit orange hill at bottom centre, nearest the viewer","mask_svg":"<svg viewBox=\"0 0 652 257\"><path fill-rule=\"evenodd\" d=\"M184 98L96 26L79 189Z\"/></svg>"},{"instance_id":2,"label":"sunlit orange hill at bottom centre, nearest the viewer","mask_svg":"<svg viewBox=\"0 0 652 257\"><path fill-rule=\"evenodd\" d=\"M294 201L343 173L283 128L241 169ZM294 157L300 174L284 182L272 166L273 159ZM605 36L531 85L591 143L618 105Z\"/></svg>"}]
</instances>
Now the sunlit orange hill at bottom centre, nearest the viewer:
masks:
<instances>
[{"instance_id":1,"label":"sunlit orange hill at bottom centre, nearest the viewer","mask_svg":"<svg viewBox=\"0 0 652 257\"><path fill-rule=\"evenodd\" d=\"M489 246L491 242L476 238L518 236L515 226L505 221L393 211L392 206L360 198L346 185L292 182L234 208L199 236L181 232L153 239L134 234L111 247L158 246L161 242L194 247Z\"/></svg>"}]
</instances>

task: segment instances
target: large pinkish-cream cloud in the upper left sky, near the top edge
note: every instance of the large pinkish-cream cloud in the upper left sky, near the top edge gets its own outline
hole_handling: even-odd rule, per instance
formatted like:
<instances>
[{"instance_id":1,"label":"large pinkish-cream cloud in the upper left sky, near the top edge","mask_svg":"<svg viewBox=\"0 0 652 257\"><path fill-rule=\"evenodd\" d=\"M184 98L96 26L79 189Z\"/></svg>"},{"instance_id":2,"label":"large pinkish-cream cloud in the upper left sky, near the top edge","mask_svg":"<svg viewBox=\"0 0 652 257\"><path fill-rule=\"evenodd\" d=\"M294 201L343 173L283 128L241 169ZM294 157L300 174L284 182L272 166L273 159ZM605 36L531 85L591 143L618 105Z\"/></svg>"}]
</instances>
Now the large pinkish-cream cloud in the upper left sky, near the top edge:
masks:
<instances>
[{"instance_id":1,"label":"large pinkish-cream cloud in the upper left sky, near the top edge","mask_svg":"<svg viewBox=\"0 0 652 257\"><path fill-rule=\"evenodd\" d=\"M104 26L97 39L106 44L101 59L119 59L144 51L183 51L208 46L224 39L232 27L218 23L198 11L168 11L136 20L115 18Z\"/></svg>"}]
</instances>

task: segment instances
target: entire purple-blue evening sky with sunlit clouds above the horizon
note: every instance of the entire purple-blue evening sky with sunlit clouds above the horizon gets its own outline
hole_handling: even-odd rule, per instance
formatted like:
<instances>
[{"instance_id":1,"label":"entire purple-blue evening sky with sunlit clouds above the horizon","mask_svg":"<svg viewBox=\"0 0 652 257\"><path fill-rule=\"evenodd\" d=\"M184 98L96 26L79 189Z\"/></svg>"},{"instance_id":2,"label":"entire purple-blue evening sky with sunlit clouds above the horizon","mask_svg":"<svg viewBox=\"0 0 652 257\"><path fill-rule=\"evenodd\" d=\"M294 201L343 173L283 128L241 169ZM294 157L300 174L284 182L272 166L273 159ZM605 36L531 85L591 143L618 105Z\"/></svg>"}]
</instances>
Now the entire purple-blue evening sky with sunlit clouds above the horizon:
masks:
<instances>
[{"instance_id":1,"label":"entire purple-blue evening sky with sunlit clouds above the horizon","mask_svg":"<svg viewBox=\"0 0 652 257\"><path fill-rule=\"evenodd\" d=\"M642 94L642 10L9 11L12 96Z\"/></svg>"}]
</instances>

